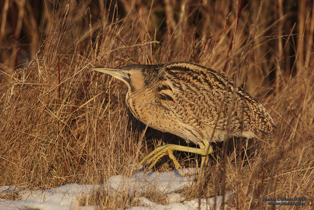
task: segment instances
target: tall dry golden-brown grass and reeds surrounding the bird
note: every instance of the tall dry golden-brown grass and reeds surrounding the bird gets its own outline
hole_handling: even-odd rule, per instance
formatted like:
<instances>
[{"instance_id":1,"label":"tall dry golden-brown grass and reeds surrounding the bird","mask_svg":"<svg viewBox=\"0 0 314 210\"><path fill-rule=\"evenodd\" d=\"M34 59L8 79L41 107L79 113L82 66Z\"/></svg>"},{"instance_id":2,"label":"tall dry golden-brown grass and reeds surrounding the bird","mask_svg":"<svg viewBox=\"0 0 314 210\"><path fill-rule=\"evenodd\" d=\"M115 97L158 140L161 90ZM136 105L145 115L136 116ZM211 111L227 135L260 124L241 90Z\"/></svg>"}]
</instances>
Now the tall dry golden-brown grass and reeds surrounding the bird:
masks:
<instances>
[{"instance_id":1,"label":"tall dry golden-brown grass and reeds surrounding the bird","mask_svg":"<svg viewBox=\"0 0 314 210\"><path fill-rule=\"evenodd\" d=\"M244 86L278 129L250 142L247 155L216 147L204 187L182 193L192 199L233 190L230 209L272 209L263 197L306 197L305 207L280 209L313 208L311 1L0 4L2 185L47 189L130 174L131 163L178 138L149 129L139 141L144 126L126 108L126 86L89 68L188 60ZM177 155L181 165L196 166L198 157ZM172 170L162 160L156 170ZM123 209L135 201L100 191L82 202Z\"/></svg>"}]
</instances>

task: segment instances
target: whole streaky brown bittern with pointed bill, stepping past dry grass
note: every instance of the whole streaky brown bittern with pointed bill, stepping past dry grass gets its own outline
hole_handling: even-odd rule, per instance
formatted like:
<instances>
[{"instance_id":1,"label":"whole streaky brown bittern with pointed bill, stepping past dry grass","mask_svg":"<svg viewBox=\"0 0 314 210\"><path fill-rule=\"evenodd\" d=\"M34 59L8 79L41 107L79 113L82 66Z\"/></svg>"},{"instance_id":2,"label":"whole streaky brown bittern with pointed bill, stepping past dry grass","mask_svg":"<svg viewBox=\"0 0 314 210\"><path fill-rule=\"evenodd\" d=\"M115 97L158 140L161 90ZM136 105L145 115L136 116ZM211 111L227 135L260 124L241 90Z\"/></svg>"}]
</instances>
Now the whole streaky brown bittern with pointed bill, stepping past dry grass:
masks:
<instances>
[{"instance_id":1,"label":"whole streaky brown bittern with pointed bill, stepping past dry grass","mask_svg":"<svg viewBox=\"0 0 314 210\"><path fill-rule=\"evenodd\" d=\"M109 74L127 85L126 104L146 126L172 133L197 147L167 144L155 148L141 162L151 170L166 154L175 168L174 150L201 155L199 179L203 179L211 143L232 137L273 134L276 128L264 106L218 71L188 61L157 65L132 64L92 70Z\"/></svg>"}]
</instances>

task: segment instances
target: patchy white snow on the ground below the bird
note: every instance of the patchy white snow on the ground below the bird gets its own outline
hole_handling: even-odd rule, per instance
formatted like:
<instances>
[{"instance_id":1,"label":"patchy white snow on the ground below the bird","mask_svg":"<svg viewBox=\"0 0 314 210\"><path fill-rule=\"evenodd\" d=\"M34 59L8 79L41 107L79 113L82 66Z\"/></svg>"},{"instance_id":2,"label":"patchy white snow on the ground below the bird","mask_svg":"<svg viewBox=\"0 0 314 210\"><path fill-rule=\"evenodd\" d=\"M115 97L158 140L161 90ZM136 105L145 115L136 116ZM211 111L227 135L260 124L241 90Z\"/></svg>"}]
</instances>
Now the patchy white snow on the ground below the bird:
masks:
<instances>
[{"instance_id":1,"label":"patchy white snow on the ground below the bird","mask_svg":"<svg viewBox=\"0 0 314 210\"><path fill-rule=\"evenodd\" d=\"M132 195L158 190L168 199L167 205L161 205L150 201L146 197L135 196L139 206L129 207L130 210L193 210L198 209L199 204L201 205L200 209L210 209L214 205L214 198L184 201L184 196L179 193L172 193L196 184L194 182L196 170L196 168L184 168L165 173L137 171L131 177L112 176L105 184L101 185L66 184L55 189L38 191L20 190L15 186L0 186L0 197L2 197L0 199L0 209L96 209L96 206L80 206L79 200L91 195L99 188L111 194L122 192ZM14 195L18 200L4 199L10 195ZM225 195L225 200L229 195ZM220 206L221 203L222 196L218 196L216 205Z\"/></svg>"}]
</instances>

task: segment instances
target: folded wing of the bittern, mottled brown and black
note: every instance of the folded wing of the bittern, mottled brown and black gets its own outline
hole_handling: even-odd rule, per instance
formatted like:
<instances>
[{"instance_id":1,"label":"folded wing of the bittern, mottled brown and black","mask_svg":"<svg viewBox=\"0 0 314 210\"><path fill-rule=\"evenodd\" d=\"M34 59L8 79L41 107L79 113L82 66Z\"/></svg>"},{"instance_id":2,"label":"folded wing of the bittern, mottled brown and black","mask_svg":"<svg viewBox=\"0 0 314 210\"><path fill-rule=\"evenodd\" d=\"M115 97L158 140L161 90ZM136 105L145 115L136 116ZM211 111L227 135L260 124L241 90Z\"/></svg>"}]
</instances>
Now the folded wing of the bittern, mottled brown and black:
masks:
<instances>
[{"instance_id":1,"label":"folded wing of the bittern, mottled brown and black","mask_svg":"<svg viewBox=\"0 0 314 210\"><path fill-rule=\"evenodd\" d=\"M182 64L182 62L180 62ZM164 105L183 123L202 129L203 125L221 130L273 133L272 118L250 94L219 72L193 63L168 66ZM168 77L168 78L167 78ZM175 101L167 100L167 97ZM229 122L229 123L228 123ZM229 124L229 125L228 125Z\"/></svg>"}]
</instances>

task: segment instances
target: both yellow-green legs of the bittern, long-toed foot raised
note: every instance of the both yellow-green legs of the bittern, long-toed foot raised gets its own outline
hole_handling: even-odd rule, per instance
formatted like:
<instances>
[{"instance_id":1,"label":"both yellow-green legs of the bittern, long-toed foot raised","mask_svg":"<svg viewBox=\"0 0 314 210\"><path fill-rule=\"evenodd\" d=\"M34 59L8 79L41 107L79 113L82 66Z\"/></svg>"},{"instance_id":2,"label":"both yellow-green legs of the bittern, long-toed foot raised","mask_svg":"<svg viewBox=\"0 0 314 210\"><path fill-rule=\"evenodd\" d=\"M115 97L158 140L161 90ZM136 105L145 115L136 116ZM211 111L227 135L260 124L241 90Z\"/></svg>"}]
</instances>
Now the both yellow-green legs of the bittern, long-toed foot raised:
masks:
<instances>
[{"instance_id":1,"label":"both yellow-green legs of the bittern, long-toed foot raised","mask_svg":"<svg viewBox=\"0 0 314 210\"><path fill-rule=\"evenodd\" d=\"M152 151L147 156L145 156L143 160L138 163L137 167L140 167L147 160L148 163L152 162L148 167L148 169L151 170L153 166L156 164L156 162L159 161L161 157L163 157L164 155L168 153L169 157L172 159L173 163L175 164L175 168L178 169L179 163L176 157L173 155L173 151L177 150L177 151L182 151L182 152L192 152L192 153L199 154L202 156L201 167L199 171L199 180L202 181L205 174L206 164L208 162L207 156L208 154L213 152L213 147L209 145L208 141L204 140L203 142L204 144L200 144L200 148L192 148L192 147L173 145L173 144L157 147L156 149L154 149L154 151Z\"/></svg>"}]
</instances>

